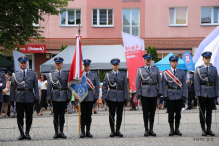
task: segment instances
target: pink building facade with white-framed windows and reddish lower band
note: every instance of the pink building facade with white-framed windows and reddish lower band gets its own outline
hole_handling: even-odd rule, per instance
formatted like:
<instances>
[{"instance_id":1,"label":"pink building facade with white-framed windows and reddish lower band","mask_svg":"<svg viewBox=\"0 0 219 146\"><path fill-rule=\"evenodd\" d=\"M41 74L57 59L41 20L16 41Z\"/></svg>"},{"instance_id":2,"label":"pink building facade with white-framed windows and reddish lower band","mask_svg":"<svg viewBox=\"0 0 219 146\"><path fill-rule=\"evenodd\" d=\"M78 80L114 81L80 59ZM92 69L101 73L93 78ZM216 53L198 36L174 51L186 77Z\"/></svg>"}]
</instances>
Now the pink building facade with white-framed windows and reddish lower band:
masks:
<instances>
[{"instance_id":1,"label":"pink building facade with white-framed windows and reddish lower band","mask_svg":"<svg viewBox=\"0 0 219 146\"><path fill-rule=\"evenodd\" d=\"M179 57L194 53L219 25L218 0L74 0L60 11L34 24L45 27L45 42L28 45L45 45L46 50L27 54L36 72L62 45L75 46L79 24L82 45L122 45L123 31L144 39L145 48L155 47L160 59L169 52Z\"/></svg>"}]
</instances>

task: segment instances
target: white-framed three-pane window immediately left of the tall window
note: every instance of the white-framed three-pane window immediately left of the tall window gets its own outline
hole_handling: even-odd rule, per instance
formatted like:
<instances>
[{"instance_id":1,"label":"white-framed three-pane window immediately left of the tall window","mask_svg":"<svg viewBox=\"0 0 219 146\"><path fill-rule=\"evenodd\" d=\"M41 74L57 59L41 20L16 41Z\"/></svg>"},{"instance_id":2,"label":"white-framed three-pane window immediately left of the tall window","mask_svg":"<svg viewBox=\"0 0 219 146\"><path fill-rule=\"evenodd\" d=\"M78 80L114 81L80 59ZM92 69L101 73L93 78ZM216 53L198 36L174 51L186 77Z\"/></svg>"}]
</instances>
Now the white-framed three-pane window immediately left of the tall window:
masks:
<instances>
[{"instance_id":1,"label":"white-framed three-pane window immediately left of the tall window","mask_svg":"<svg viewBox=\"0 0 219 146\"><path fill-rule=\"evenodd\" d=\"M113 9L93 9L93 27L113 27Z\"/></svg>"}]
</instances>

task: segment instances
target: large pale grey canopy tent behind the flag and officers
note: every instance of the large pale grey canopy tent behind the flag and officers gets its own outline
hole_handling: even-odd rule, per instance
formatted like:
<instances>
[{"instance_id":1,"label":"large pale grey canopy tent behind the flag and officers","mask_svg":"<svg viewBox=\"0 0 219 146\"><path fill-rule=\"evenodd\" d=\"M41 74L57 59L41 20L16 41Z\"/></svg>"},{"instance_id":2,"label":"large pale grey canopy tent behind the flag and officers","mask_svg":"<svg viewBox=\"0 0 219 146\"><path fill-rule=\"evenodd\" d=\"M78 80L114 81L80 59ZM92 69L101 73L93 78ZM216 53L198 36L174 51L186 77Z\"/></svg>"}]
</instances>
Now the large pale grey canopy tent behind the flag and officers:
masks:
<instances>
[{"instance_id":1,"label":"large pale grey canopy tent behind the flag and officers","mask_svg":"<svg viewBox=\"0 0 219 146\"><path fill-rule=\"evenodd\" d=\"M40 72L50 72L55 69L54 58L62 57L63 70L69 70L75 53L75 46L68 46L52 59L40 66ZM120 69L127 69L125 51L122 45L82 46L83 59L90 59L91 70L111 70L111 59L120 59Z\"/></svg>"}]
</instances>

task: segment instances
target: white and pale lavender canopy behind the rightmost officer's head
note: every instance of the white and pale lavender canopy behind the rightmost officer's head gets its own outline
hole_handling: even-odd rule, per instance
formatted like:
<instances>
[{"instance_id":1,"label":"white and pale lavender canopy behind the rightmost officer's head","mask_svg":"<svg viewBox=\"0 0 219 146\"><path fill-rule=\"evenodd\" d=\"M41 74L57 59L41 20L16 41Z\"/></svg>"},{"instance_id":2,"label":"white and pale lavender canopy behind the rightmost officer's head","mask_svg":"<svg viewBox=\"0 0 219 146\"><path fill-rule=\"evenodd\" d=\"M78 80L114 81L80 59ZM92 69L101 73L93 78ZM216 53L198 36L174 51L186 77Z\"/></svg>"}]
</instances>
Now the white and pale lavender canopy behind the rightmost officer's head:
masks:
<instances>
[{"instance_id":1,"label":"white and pale lavender canopy behind the rightmost officer's head","mask_svg":"<svg viewBox=\"0 0 219 146\"><path fill-rule=\"evenodd\" d=\"M212 53L211 63L217 68L217 72L219 73L219 26L217 26L198 46L196 50L193 61L195 63L195 67L198 67L203 64L202 53L206 51L210 51Z\"/></svg>"}]
</instances>

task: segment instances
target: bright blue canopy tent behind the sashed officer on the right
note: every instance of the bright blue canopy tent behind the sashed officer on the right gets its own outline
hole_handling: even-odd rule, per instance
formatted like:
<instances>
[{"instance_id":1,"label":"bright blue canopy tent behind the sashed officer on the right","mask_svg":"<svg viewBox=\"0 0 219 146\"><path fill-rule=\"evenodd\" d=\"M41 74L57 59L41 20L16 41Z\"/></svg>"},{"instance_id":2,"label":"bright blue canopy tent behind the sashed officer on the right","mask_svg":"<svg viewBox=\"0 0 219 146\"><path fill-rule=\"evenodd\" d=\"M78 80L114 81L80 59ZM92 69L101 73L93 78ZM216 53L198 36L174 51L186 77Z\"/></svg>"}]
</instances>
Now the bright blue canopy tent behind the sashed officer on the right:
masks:
<instances>
[{"instance_id":1,"label":"bright blue canopy tent behind the sashed officer on the right","mask_svg":"<svg viewBox=\"0 0 219 146\"><path fill-rule=\"evenodd\" d=\"M169 58L172 55L174 55L174 54L172 52L170 52L166 57L164 57L164 59L162 59L159 62L155 63L155 66L157 66L160 71L170 69L171 65L170 65ZM181 69L181 70L187 70L187 68L184 64L184 61L181 58L179 58L179 60L178 60L177 68Z\"/></svg>"}]
</instances>

